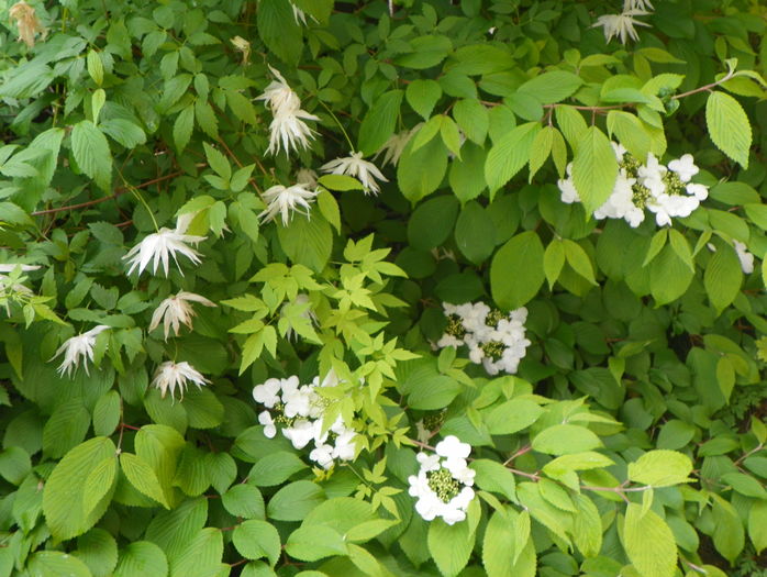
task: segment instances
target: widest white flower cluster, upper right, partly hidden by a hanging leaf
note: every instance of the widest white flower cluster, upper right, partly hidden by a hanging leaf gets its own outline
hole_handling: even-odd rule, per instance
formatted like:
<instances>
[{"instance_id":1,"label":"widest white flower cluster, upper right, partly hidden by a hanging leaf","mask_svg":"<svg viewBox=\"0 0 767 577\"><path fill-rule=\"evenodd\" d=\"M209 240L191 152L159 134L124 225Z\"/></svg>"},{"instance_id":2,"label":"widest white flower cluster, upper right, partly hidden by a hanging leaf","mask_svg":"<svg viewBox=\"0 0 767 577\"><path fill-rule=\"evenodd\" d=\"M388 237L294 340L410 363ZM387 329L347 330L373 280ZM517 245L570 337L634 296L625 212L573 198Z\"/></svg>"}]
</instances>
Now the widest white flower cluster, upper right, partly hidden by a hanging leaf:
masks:
<instances>
[{"instance_id":1,"label":"widest white flower cluster, upper right, partly hidden by a hanging leaf","mask_svg":"<svg viewBox=\"0 0 767 577\"><path fill-rule=\"evenodd\" d=\"M619 163L618 177L610 198L594 211L596 219L623 219L635 229L645 220L647 209L655 214L658 226L665 226L675 217L689 217L708 198L705 185L690 182L699 171L691 154L664 166L648 153L645 164L641 164L620 144L612 146ZM571 170L573 165L567 165L567 178L557 181L562 201L568 204L580 201Z\"/></svg>"}]
</instances>

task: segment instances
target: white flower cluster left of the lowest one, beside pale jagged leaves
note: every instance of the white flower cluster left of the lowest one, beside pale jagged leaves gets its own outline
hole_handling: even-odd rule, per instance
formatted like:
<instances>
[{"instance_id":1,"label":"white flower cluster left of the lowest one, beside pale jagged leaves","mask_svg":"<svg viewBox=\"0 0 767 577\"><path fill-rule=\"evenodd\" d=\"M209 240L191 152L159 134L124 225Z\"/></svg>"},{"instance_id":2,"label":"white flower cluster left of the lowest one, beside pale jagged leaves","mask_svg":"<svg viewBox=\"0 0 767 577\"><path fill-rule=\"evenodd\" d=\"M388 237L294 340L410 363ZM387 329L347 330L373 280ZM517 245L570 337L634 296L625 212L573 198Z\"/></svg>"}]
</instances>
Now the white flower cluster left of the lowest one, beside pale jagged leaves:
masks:
<instances>
[{"instance_id":1,"label":"white flower cluster left of the lowest one, beside pale jagged leaves","mask_svg":"<svg viewBox=\"0 0 767 577\"><path fill-rule=\"evenodd\" d=\"M353 461L356 433L341 418L323 432L322 413L326 402L318 395L316 388L335 384L337 378L331 373L322 382L319 377L314 377L310 385L301 385L296 376L287 379L270 378L257 385L253 389L253 398L269 409L258 414L264 434L274 439L279 425L282 434L297 450L313 442L314 447L309 453L309 458L324 469L331 468L336 459Z\"/></svg>"}]
</instances>

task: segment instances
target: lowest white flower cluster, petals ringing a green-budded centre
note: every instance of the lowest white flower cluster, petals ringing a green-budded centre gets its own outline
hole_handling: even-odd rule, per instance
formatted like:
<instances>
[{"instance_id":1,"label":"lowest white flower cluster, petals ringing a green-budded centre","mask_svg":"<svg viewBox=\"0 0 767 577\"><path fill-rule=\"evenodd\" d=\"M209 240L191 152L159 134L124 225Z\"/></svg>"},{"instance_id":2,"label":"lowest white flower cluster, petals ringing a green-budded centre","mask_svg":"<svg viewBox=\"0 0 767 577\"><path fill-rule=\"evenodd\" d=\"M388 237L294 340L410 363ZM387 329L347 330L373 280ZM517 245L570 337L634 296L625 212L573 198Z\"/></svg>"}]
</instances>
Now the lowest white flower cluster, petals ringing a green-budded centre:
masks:
<instances>
[{"instance_id":1,"label":"lowest white flower cluster, petals ringing a green-budded centre","mask_svg":"<svg viewBox=\"0 0 767 577\"><path fill-rule=\"evenodd\" d=\"M466 510L474 499L475 471L466 463L471 445L449 435L434 450L435 455L416 455L421 469L408 478L408 492L418 499L415 511L424 520L441 517L452 525L466 519Z\"/></svg>"}]
</instances>

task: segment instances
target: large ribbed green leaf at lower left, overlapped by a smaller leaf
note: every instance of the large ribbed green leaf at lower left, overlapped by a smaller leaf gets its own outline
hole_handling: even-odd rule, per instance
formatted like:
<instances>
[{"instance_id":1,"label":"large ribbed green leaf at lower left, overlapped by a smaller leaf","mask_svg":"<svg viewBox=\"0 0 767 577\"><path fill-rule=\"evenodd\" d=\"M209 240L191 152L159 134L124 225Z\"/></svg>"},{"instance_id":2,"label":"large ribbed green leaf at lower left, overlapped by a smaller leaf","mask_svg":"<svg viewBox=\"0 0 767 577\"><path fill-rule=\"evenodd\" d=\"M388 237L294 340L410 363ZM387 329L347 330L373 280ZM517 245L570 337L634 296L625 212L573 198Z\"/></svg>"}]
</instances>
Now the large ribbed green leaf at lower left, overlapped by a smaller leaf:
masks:
<instances>
[{"instance_id":1,"label":"large ribbed green leaf at lower left, overlapped by a smaller leaf","mask_svg":"<svg viewBox=\"0 0 767 577\"><path fill-rule=\"evenodd\" d=\"M97 436L69 451L56 465L43 491L43 512L57 540L71 539L88 531L101 518L111 499L111 491L85 514L85 487L91 470L107 458L114 458L115 446L111 440Z\"/></svg>"}]
</instances>

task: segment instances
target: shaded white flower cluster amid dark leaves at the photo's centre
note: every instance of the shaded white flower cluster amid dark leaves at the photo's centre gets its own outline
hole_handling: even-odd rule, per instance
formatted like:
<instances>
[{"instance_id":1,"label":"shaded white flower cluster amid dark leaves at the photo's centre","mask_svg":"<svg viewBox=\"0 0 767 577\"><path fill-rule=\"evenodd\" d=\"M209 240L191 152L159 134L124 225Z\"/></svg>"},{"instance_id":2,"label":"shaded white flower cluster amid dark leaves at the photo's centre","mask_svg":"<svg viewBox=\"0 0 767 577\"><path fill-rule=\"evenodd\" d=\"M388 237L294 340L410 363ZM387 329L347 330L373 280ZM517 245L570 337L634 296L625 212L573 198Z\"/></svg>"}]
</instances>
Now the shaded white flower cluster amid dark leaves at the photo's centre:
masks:
<instances>
[{"instance_id":1,"label":"shaded white flower cluster amid dark leaves at the photo's centre","mask_svg":"<svg viewBox=\"0 0 767 577\"><path fill-rule=\"evenodd\" d=\"M530 345L524 336L527 309L522 307L507 314L483 302L443 302L442 307L447 328L436 343L438 348L466 345L471 362L481 364L490 375L501 370L516 373Z\"/></svg>"}]
</instances>

